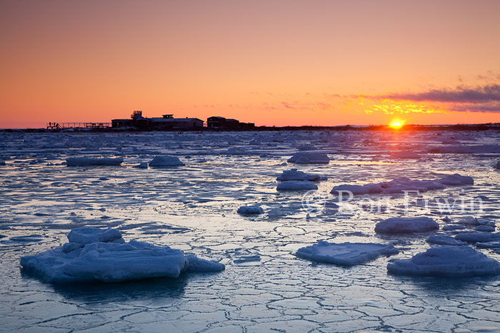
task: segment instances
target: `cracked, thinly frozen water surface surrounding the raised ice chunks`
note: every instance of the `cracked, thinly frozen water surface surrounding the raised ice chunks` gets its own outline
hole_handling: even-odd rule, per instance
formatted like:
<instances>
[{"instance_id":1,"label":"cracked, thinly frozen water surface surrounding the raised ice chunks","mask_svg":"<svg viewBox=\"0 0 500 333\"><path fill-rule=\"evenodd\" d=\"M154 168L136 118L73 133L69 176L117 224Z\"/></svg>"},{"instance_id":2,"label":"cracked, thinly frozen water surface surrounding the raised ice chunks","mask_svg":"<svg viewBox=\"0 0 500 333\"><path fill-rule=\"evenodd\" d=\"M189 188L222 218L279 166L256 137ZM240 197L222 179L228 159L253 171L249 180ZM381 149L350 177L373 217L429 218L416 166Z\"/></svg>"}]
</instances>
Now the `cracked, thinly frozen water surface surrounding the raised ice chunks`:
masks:
<instances>
[{"instance_id":1,"label":"cracked, thinly frozen water surface surrounding the raised ice chunks","mask_svg":"<svg viewBox=\"0 0 500 333\"><path fill-rule=\"evenodd\" d=\"M366 196L356 195L352 203L364 203L364 209L339 211L342 205L329 193L342 184L435 180L458 173L474 184L414 196L408 217L431 217L440 227L435 233L449 237L476 232L477 224L459 222L464 216L498 221L500 173L491 165L499 160L499 134L440 134L0 133L0 160L6 162L0 165L1 330L498 332L499 276L387 273L389 262L435 246L426 242L429 233L374 232L376 222L404 215L403 195L366 195L389 198L390 209L381 211L370 211ZM299 151L330 159L300 165L304 173L328 179L317 183L321 195L305 208L304 192L276 190L276 176L294 168L286 161ZM164 155L185 165L135 168ZM72 168L67 158L124 161ZM469 208L471 198L481 198L482 212L459 211ZM445 200L455 203L453 212L441 212ZM238 208L246 205L258 205L264 213L239 215ZM445 215L451 222L442 220ZM457 223L464 229L444 228ZM76 227L113 227L126 240L171 246L219 261L226 270L64 286L21 274L21 256L63 245ZM294 255L317 240L393 243L399 254L349 268ZM493 246L483 244L469 245L500 259Z\"/></svg>"}]
</instances>

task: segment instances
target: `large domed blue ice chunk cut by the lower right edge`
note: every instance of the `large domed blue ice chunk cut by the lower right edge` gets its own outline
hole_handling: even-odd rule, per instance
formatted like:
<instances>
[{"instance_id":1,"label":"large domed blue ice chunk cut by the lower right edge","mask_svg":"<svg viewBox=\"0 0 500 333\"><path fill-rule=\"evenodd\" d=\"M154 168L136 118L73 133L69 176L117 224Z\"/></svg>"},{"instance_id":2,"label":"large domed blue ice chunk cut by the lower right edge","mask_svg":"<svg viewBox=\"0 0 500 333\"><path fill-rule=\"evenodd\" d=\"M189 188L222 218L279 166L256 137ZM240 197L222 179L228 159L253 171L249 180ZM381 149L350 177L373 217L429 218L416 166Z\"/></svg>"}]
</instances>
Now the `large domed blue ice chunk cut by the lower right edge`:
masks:
<instances>
[{"instance_id":1,"label":"large domed blue ice chunk cut by the lower right edge","mask_svg":"<svg viewBox=\"0 0 500 333\"><path fill-rule=\"evenodd\" d=\"M472 277L500 274L500 262L470 246L439 246L411 259L389 262L387 270L398 275Z\"/></svg>"}]
</instances>

